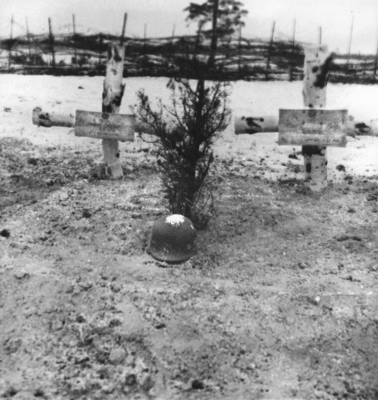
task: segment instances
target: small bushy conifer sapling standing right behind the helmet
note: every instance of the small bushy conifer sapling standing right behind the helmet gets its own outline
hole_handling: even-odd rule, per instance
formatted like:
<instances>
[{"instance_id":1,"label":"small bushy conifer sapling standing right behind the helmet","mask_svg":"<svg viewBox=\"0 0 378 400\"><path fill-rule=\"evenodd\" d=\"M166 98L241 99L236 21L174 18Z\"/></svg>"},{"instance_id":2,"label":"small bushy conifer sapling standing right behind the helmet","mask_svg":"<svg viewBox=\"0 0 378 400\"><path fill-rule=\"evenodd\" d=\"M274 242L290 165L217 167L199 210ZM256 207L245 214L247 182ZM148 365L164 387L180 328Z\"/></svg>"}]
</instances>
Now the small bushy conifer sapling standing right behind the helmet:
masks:
<instances>
[{"instance_id":1,"label":"small bushy conifer sapling standing right behind the helmet","mask_svg":"<svg viewBox=\"0 0 378 400\"><path fill-rule=\"evenodd\" d=\"M197 67L200 63L197 64ZM201 68L198 68L201 70ZM171 79L172 105L160 100L155 109L143 90L132 107L142 125L154 134L153 143L162 183L172 213L187 216L197 229L204 228L215 212L211 179L212 146L230 121L229 84Z\"/></svg>"}]
</instances>

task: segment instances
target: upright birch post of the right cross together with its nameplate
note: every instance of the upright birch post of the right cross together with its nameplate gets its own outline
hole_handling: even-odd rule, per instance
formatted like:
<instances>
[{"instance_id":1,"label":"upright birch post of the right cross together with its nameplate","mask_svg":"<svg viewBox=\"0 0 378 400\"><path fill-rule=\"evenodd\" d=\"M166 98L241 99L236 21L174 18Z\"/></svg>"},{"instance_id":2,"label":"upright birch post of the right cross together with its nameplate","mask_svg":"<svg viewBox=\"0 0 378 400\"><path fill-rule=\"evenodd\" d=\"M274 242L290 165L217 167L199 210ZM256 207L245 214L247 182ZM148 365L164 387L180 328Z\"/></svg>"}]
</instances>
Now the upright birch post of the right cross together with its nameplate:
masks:
<instances>
[{"instance_id":1,"label":"upright birch post of the right cross together with its nameplate","mask_svg":"<svg viewBox=\"0 0 378 400\"><path fill-rule=\"evenodd\" d=\"M345 147L347 110L326 110L332 56L327 46L305 49L303 102L307 109L280 109L279 145L302 145L304 181L312 191L327 186L327 146Z\"/></svg>"}]
</instances>

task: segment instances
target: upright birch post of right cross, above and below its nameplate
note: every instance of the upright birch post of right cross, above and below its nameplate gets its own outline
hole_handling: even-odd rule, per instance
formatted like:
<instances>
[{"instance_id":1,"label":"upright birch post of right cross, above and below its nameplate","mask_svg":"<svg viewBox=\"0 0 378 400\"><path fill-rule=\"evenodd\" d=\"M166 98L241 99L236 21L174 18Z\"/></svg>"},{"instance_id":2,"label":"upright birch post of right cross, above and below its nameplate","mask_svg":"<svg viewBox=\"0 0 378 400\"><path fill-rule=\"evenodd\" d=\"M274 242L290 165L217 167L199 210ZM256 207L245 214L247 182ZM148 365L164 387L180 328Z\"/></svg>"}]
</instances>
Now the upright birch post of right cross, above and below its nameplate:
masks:
<instances>
[{"instance_id":1,"label":"upright birch post of right cross, above and below its nameplate","mask_svg":"<svg viewBox=\"0 0 378 400\"><path fill-rule=\"evenodd\" d=\"M327 46L305 49L303 101L308 108L325 108L326 86L332 62ZM312 191L319 192L327 186L326 146L302 146L304 181Z\"/></svg>"}]
</instances>

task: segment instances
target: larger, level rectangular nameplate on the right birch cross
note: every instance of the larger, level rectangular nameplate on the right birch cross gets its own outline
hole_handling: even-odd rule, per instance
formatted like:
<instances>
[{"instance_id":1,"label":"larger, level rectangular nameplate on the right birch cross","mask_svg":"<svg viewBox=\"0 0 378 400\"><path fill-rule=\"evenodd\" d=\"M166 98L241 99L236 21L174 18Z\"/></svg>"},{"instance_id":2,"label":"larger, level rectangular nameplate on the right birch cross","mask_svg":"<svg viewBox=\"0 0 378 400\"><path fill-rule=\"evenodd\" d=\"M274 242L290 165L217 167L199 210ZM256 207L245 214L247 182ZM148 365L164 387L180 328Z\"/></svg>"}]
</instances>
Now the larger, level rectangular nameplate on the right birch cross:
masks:
<instances>
[{"instance_id":1,"label":"larger, level rectangular nameplate on the right birch cross","mask_svg":"<svg viewBox=\"0 0 378 400\"><path fill-rule=\"evenodd\" d=\"M347 145L348 110L280 109L279 145Z\"/></svg>"}]
</instances>

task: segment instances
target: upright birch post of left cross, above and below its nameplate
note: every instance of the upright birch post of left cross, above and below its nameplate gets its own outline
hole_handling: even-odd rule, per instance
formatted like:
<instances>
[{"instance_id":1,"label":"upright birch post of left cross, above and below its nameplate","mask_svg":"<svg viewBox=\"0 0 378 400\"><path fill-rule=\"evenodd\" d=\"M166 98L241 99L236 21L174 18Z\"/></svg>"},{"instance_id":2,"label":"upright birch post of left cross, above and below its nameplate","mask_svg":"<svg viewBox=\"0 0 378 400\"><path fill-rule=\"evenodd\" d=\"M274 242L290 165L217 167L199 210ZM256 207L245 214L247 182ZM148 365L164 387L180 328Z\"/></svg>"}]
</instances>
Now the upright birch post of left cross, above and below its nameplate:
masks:
<instances>
[{"instance_id":1,"label":"upright birch post of left cross, above and below its nameplate","mask_svg":"<svg viewBox=\"0 0 378 400\"><path fill-rule=\"evenodd\" d=\"M103 81L102 112L118 113L125 85L123 78L124 47L109 44L107 49L106 75ZM121 179L122 166L119 159L118 140L102 139L105 176L108 179Z\"/></svg>"}]
</instances>

